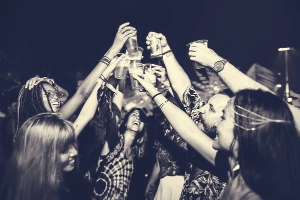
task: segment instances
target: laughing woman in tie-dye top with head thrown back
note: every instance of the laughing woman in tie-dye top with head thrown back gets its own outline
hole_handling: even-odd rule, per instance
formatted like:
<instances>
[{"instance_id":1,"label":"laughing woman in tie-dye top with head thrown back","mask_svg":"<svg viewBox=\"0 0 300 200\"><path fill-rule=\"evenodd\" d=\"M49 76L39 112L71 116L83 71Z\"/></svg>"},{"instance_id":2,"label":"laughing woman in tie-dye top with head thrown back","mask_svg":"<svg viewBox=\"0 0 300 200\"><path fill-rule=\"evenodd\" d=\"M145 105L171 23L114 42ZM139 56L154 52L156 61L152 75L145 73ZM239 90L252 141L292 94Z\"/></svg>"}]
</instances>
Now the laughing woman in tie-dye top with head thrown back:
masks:
<instances>
[{"instance_id":1,"label":"laughing woman in tie-dye top with head thrown back","mask_svg":"<svg viewBox=\"0 0 300 200\"><path fill-rule=\"evenodd\" d=\"M133 162L135 157L144 155L146 115L142 109L132 108L119 125L124 86L125 80L120 80L104 146L84 176L90 183L89 196L92 199L127 199Z\"/></svg>"}]
</instances>

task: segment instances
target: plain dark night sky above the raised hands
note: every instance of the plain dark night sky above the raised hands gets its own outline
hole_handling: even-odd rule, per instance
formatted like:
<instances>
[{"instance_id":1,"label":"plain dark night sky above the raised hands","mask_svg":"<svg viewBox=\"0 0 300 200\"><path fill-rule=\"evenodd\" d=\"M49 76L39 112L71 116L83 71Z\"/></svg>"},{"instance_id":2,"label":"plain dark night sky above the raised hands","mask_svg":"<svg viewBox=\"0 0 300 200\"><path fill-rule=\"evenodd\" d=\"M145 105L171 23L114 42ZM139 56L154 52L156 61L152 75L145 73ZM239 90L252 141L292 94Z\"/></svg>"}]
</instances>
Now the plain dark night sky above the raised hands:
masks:
<instances>
[{"instance_id":1,"label":"plain dark night sky above the raised hands","mask_svg":"<svg viewBox=\"0 0 300 200\"><path fill-rule=\"evenodd\" d=\"M253 63L282 71L283 57L277 49L300 50L297 4L282 0L1 0L0 49L13 60L10 70L22 73L23 79L49 71L56 80L67 82L76 70L91 71L112 44L118 26L130 22L144 49L149 31L164 34L189 74L185 44L199 39L207 39L211 49L243 72ZM299 56L297 51L290 58L292 87L298 85ZM148 57L145 50L143 62L151 62Z\"/></svg>"}]
</instances>

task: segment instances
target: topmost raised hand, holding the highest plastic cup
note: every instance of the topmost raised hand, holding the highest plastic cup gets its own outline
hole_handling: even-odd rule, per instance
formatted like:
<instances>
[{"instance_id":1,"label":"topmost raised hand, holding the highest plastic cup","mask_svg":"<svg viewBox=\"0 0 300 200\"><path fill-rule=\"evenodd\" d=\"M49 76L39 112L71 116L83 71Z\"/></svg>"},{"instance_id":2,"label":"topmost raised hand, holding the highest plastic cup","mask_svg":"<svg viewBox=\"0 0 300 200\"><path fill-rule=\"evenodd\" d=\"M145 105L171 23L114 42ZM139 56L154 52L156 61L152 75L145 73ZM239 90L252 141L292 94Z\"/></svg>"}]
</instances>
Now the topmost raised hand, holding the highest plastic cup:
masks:
<instances>
[{"instance_id":1,"label":"topmost raised hand, holding the highest plastic cup","mask_svg":"<svg viewBox=\"0 0 300 200\"><path fill-rule=\"evenodd\" d=\"M118 53L121 51L122 47L124 46L126 40L136 34L136 29L133 27L129 27L129 22L124 23L119 26L113 44L112 48L114 49L114 52Z\"/></svg>"}]
</instances>

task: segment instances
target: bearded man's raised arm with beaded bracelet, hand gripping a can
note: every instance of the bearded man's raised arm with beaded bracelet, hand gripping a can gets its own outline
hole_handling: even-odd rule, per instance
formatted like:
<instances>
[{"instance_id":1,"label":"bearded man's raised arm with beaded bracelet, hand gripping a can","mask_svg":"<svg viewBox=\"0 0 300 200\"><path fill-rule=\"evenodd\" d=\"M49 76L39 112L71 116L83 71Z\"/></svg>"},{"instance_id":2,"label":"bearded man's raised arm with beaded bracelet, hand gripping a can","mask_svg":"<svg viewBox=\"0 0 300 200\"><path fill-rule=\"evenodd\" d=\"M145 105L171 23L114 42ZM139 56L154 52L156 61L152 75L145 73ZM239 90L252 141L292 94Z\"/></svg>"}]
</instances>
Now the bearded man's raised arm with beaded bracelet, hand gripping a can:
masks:
<instances>
[{"instance_id":1,"label":"bearded man's raised arm with beaded bracelet, hand gripping a can","mask_svg":"<svg viewBox=\"0 0 300 200\"><path fill-rule=\"evenodd\" d=\"M150 32L146 37L146 44L149 45L150 38L155 37L161 40L162 52L170 50L167 44L166 38L162 34L157 34L155 32ZM150 49L148 46L147 49ZM179 100L182 101L182 95L186 88L191 84L187 74L184 72L182 67L177 62L174 54L172 52L167 53L162 56L163 63L165 65L169 81L171 82L172 89L176 92ZM180 80L180 81L179 81Z\"/></svg>"}]
</instances>

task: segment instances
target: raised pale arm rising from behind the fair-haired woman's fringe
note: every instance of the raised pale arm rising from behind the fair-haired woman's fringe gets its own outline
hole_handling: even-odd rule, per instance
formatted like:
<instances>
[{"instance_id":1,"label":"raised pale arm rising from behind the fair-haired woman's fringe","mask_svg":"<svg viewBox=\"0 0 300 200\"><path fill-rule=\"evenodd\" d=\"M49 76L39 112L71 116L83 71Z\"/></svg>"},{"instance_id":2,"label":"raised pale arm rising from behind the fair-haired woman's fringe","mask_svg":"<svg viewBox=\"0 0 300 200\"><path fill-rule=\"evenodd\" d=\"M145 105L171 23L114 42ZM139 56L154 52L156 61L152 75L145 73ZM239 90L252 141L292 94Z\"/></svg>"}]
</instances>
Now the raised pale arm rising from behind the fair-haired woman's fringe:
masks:
<instances>
[{"instance_id":1,"label":"raised pale arm rising from behind the fair-haired woman's fringe","mask_svg":"<svg viewBox=\"0 0 300 200\"><path fill-rule=\"evenodd\" d=\"M114 70L116 64L121 60L121 57L112 61L110 65L104 70L102 73L104 78L107 78L108 75ZM77 119L74 121L73 126L75 128L76 137L82 131L82 129L86 126L86 124L93 118L95 115L98 101L97 101L97 91L100 87L105 87L102 85L103 81L101 79L97 79L96 86L94 87L92 93L89 95L88 99L84 103Z\"/></svg>"}]
</instances>

